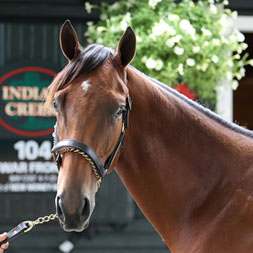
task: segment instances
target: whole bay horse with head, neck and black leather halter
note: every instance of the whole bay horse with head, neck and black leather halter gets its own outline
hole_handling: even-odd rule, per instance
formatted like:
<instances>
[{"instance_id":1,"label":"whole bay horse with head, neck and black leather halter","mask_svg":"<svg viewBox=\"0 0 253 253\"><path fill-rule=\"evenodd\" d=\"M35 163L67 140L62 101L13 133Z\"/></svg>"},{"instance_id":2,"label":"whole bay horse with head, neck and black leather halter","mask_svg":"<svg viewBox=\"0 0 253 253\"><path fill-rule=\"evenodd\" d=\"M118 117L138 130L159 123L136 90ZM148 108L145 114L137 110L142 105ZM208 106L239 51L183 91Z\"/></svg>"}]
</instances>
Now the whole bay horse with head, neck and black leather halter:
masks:
<instances>
[{"instance_id":1,"label":"whole bay horse with head, neck and black leather halter","mask_svg":"<svg viewBox=\"0 0 253 253\"><path fill-rule=\"evenodd\" d=\"M253 252L253 133L131 67L130 27L115 51L83 50L66 21L60 45L68 64L46 104L57 114L63 228L88 226L97 187L115 168L172 252Z\"/></svg>"}]
</instances>

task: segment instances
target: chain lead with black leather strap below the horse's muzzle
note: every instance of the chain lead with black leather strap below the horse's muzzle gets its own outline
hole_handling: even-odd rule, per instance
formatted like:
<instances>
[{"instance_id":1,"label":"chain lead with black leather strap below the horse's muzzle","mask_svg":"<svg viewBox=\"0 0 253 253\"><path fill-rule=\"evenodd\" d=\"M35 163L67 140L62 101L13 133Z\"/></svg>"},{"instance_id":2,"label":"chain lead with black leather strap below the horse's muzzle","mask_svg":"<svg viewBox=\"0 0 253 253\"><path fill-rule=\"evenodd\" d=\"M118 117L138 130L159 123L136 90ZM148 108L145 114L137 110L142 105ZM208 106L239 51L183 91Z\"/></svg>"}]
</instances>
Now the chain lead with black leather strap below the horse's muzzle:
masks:
<instances>
[{"instance_id":1,"label":"chain lead with black leather strap below the horse's muzzle","mask_svg":"<svg viewBox=\"0 0 253 253\"><path fill-rule=\"evenodd\" d=\"M57 214L50 214L48 216L39 217L38 219L34 221L23 221L7 233L6 239L0 242L0 246L4 243L7 243L17 238L18 236L24 233L31 231L36 225L41 225L41 224L53 221L55 219L58 219Z\"/></svg>"}]
</instances>

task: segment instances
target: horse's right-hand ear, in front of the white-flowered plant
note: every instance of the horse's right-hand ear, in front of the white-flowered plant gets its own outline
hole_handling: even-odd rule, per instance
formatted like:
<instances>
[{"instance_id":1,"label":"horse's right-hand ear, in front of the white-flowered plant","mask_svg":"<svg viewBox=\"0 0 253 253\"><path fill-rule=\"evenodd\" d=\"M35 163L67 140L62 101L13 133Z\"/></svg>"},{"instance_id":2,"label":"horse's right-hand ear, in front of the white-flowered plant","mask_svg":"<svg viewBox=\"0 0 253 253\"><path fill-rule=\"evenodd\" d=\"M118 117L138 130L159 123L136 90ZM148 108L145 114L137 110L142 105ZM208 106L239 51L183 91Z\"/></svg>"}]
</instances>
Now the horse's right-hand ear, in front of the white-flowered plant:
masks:
<instances>
[{"instance_id":1,"label":"horse's right-hand ear, in front of the white-flowered plant","mask_svg":"<svg viewBox=\"0 0 253 253\"><path fill-rule=\"evenodd\" d=\"M136 37L129 26L119 41L115 58L121 66L126 67L134 58L135 51Z\"/></svg>"}]
</instances>

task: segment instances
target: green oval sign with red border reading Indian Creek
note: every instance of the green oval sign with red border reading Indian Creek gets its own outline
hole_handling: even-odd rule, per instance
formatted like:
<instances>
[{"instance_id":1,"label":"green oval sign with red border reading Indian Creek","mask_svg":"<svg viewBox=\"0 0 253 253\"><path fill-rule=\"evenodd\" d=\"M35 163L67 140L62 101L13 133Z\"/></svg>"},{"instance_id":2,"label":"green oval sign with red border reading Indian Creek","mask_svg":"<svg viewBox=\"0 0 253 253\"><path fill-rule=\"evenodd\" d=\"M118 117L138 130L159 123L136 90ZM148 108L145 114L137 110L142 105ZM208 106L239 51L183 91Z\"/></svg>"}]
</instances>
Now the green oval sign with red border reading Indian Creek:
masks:
<instances>
[{"instance_id":1,"label":"green oval sign with red border reading Indian Creek","mask_svg":"<svg viewBox=\"0 0 253 253\"><path fill-rule=\"evenodd\" d=\"M45 110L44 99L55 75L46 68L23 67L0 76L0 125L22 136L52 133L55 112Z\"/></svg>"}]
</instances>

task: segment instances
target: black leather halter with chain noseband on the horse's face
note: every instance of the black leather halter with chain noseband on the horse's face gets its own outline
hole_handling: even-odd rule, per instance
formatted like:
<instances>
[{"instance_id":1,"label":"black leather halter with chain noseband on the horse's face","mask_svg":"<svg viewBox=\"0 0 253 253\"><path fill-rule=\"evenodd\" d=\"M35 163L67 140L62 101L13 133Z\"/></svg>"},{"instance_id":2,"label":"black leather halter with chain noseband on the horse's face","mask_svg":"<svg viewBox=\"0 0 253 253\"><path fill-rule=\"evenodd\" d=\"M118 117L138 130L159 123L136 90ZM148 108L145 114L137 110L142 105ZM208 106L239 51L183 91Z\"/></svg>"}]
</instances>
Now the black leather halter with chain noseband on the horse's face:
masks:
<instances>
[{"instance_id":1,"label":"black leather halter with chain noseband on the horse's face","mask_svg":"<svg viewBox=\"0 0 253 253\"><path fill-rule=\"evenodd\" d=\"M95 177L98 180L98 185L100 185L103 177L106 175L108 169L110 168L116 154L118 153L119 148L123 148L124 145L124 136L125 136L125 129L128 128L129 124L129 113L131 110L131 98L128 95L126 98L126 106L122 112L122 128L121 133L118 139L118 142L116 146L114 147L112 153L107 158L105 164L103 165L100 159L98 158L96 152L87 144L82 143L78 140L71 140L71 139L65 139L65 140L59 140L58 134L57 134L57 123L55 124L54 128L54 146L51 150L53 154L53 159L60 168L62 164L62 154L66 152L74 152L81 156L83 156L91 165L93 169L93 173Z\"/></svg>"}]
</instances>

